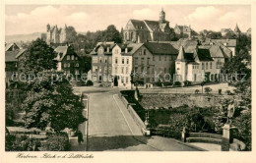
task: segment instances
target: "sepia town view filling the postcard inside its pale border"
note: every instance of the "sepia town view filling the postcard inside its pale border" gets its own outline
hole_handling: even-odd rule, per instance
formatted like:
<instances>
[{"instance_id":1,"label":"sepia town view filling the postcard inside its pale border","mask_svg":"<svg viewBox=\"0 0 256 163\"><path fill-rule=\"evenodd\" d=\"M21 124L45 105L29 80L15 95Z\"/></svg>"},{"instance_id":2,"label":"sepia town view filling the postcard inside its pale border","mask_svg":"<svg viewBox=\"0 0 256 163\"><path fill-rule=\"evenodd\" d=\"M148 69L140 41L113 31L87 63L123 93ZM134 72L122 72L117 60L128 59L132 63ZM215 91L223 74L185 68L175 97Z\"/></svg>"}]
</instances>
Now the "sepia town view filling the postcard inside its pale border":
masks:
<instances>
[{"instance_id":1,"label":"sepia town view filling the postcard inside its pale border","mask_svg":"<svg viewBox=\"0 0 256 163\"><path fill-rule=\"evenodd\" d=\"M5 5L5 151L252 151L251 8Z\"/></svg>"}]
</instances>

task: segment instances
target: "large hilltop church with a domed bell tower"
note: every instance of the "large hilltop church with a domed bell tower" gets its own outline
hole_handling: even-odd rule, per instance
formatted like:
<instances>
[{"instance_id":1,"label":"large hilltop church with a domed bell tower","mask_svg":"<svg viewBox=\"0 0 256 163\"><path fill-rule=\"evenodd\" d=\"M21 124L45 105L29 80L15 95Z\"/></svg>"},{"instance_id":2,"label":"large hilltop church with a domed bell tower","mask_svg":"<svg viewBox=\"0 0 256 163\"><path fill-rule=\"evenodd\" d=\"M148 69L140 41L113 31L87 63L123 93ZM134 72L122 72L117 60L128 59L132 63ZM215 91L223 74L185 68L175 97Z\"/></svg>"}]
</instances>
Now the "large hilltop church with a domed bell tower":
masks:
<instances>
[{"instance_id":1,"label":"large hilltop church with a domed bell tower","mask_svg":"<svg viewBox=\"0 0 256 163\"><path fill-rule=\"evenodd\" d=\"M170 41L173 28L165 20L165 13L161 9L159 21L129 20L123 29L124 42L143 43L148 41Z\"/></svg>"}]
</instances>

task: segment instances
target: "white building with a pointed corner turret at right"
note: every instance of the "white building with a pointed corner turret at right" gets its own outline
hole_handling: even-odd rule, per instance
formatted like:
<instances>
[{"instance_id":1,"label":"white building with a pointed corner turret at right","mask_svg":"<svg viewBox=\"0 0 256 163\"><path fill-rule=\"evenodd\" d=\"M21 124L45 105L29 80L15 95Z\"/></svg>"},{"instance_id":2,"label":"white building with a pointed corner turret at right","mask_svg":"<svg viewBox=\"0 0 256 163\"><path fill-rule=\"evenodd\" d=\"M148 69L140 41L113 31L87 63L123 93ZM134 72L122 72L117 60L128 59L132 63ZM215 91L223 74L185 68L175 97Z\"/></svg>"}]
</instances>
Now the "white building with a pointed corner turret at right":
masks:
<instances>
[{"instance_id":1,"label":"white building with a pointed corner turret at right","mask_svg":"<svg viewBox=\"0 0 256 163\"><path fill-rule=\"evenodd\" d=\"M223 45L179 48L175 61L175 81L216 81L224 62L231 57L231 50Z\"/></svg>"}]
</instances>

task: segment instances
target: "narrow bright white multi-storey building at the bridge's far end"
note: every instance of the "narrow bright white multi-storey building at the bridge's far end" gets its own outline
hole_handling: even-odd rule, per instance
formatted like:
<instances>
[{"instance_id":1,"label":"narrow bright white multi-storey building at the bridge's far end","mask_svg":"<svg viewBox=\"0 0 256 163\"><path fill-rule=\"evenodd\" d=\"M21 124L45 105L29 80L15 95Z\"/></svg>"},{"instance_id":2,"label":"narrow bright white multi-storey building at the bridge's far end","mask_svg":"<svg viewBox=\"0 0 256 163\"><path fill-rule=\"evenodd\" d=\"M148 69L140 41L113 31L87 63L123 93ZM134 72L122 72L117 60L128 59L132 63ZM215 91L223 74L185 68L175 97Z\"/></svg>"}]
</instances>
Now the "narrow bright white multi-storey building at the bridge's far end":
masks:
<instances>
[{"instance_id":1,"label":"narrow bright white multi-storey building at the bridge's far end","mask_svg":"<svg viewBox=\"0 0 256 163\"><path fill-rule=\"evenodd\" d=\"M133 54L143 43L115 44L112 49L113 86L132 88Z\"/></svg>"}]
</instances>

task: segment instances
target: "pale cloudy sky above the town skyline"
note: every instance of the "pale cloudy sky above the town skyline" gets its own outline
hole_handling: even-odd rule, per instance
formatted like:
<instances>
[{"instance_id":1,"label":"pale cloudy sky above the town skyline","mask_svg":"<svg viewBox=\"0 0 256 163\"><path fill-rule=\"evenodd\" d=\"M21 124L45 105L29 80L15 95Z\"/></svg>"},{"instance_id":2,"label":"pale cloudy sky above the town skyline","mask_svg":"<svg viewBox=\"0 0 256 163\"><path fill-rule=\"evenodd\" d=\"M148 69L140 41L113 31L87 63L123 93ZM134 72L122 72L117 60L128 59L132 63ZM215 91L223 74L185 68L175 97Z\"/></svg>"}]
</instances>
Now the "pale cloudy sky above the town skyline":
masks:
<instances>
[{"instance_id":1,"label":"pale cloudy sky above the town skyline","mask_svg":"<svg viewBox=\"0 0 256 163\"><path fill-rule=\"evenodd\" d=\"M248 5L8 5L6 34L45 32L46 25L73 26L77 31L96 31L115 25L125 27L129 19L159 20L163 8L170 27L191 25L196 31L234 28L242 31L251 27L251 8Z\"/></svg>"}]
</instances>

